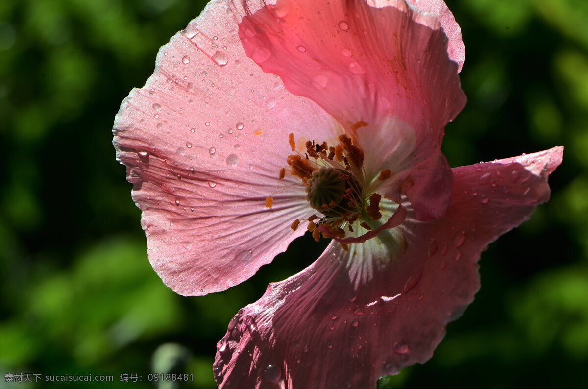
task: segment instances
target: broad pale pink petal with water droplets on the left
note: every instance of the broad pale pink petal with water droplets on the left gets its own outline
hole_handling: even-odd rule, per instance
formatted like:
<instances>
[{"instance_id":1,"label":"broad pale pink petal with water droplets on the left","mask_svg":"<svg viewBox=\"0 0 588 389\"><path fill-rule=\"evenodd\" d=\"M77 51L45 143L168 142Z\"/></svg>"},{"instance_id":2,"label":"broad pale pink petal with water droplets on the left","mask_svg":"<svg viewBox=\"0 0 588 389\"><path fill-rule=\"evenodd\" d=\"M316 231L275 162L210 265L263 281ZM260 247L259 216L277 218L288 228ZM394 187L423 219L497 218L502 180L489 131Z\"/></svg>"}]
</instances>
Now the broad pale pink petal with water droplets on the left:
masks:
<instances>
[{"instance_id":1,"label":"broad pale pink petal with water droplets on the left","mask_svg":"<svg viewBox=\"0 0 588 389\"><path fill-rule=\"evenodd\" d=\"M302 187L289 188L295 180L278 180L288 134L303 146L342 132L247 58L236 31L251 4L209 4L161 48L155 73L115 120L149 260L180 294L226 289L285 251L305 230L290 224L312 213Z\"/></svg>"}]
</instances>

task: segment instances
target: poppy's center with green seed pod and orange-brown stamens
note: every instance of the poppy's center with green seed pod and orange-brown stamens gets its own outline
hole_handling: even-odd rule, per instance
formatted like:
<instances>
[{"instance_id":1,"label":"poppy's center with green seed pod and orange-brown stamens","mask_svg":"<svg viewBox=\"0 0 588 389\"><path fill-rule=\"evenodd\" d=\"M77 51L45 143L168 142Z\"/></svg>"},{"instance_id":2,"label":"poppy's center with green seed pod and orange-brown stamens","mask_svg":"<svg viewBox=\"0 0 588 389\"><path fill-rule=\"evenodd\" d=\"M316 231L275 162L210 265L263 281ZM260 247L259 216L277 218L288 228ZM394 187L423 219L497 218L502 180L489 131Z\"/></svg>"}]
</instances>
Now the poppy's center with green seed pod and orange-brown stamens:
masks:
<instances>
[{"instance_id":1,"label":"poppy's center with green seed pod and orange-brown stamens","mask_svg":"<svg viewBox=\"0 0 588 389\"><path fill-rule=\"evenodd\" d=\"M293 134L289 135L289 142L295 152ZM348 245L341 240L348 232L354 232L353 226L358 219L359 225L370 231L372 226L368 223L382 217L382 196L376 193L377 184L390 178L390 170L383 170L377 179L367 182L363 171L363 150L353 145L347 135L340 135L335 147L329 147L326 142L315 143L314 140L306 141L305 146L304 154L297 152L288 156L288 165L291 174L298 177L305 187L310 207L322 213L322 216L313 214L308 218L308 230L317 242L322 234L323 237L335 238L343 249L347 249ZM282 180L285 175L286 168L282 168L279 179ZM266 199L266 207L271 206L272 200L272 197ZM294 220L292 229L298 229L299 224L300 220ZM371 231L370 237L376 236L381 228ZM346 239L346 242L365 242L370 239L365 235Z\"/></svg>"}]
</instances>

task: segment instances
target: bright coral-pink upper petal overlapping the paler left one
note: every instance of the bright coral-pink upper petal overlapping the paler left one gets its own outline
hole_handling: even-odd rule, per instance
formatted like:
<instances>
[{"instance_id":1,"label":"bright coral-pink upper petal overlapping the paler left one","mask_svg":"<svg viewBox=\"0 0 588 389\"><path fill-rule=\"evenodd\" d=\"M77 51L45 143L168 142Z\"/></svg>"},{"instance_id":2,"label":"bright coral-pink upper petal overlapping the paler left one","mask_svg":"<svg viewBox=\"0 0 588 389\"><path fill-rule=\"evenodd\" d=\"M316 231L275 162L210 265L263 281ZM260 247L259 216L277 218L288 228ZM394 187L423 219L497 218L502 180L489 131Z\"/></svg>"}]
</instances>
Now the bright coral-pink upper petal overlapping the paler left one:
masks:
<instances>
[{"instance_id":1,"label":"bright coral-pink upper petal overlapping the paler left one","mask_svg":"<svg viewBox=\"0 0 588 389\"><path fill-rule=\"evenodd\" d=\"M377 5L385 4L392 6L281 0L243 18L239 37L263 71L279 75L295 95L318 103L366 155L376 156L366 158L368 175L397 165L407 170L402 177L425 183L396 182L390 193L412 187L409 198L417 215L438 217L445 211L450 183L435 198L421 192L433 175L450 176L438 153L446 123L466 99L436 16L403 1ZM379 150L397 149L405 159L377 156ZM415 166L421 168L408 171Z\"/></svg>"}]
</instances>

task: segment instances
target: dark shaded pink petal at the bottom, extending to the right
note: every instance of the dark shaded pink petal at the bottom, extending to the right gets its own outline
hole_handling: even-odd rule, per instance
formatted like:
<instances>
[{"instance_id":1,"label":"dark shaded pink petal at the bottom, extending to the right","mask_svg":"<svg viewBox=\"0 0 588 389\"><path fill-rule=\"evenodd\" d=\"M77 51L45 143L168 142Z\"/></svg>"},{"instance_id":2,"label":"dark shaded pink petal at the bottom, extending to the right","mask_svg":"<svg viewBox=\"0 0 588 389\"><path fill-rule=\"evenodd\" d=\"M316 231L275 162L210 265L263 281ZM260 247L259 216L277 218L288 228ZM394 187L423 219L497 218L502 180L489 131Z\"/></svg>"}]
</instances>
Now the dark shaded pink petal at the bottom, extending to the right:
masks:
<instances>
[{"instance_id":1,"label":"dark shaded pink petal at the bottom, extending to the right","mask_svg":"<svg viewBox=\"0 0 588 389\"><path fill-rule=\"evenodd\" d=\"M428 360L479 289L480 251L549 199L547 175L562 152L457 167L447 213L401 227L403 256L370 256L372 240L360 257L331 244L308 269L270 284L218 343L219 388L374 388ZM366 263L373 278L355 286L350 268Z\"/></svg>"}]
</instances>

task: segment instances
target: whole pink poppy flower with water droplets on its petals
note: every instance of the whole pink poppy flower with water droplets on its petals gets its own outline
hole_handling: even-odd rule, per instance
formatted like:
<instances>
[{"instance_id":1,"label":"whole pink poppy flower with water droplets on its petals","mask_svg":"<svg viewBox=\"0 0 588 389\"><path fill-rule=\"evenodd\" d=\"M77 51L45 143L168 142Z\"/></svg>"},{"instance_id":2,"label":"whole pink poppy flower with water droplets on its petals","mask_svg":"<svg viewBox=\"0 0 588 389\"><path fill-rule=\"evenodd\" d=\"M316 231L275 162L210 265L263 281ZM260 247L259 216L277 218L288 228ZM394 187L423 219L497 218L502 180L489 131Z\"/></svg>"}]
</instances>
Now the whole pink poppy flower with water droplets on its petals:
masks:
<instances>
[{"instance_id":1,"label":"whole pink poppy flower with water droplets on its petals","mask_svg":"<svg viewBox=\"0 0 588 389\"><path fill-rule=\"evenodd\" d=\"M222 388L373 388L423 363L480 252L549 199L563 148L451 169L465 49L440 0L218 0L115 121L149 260L183 295L332 237L218 343Z\"/></svg>"}]
</instances>

